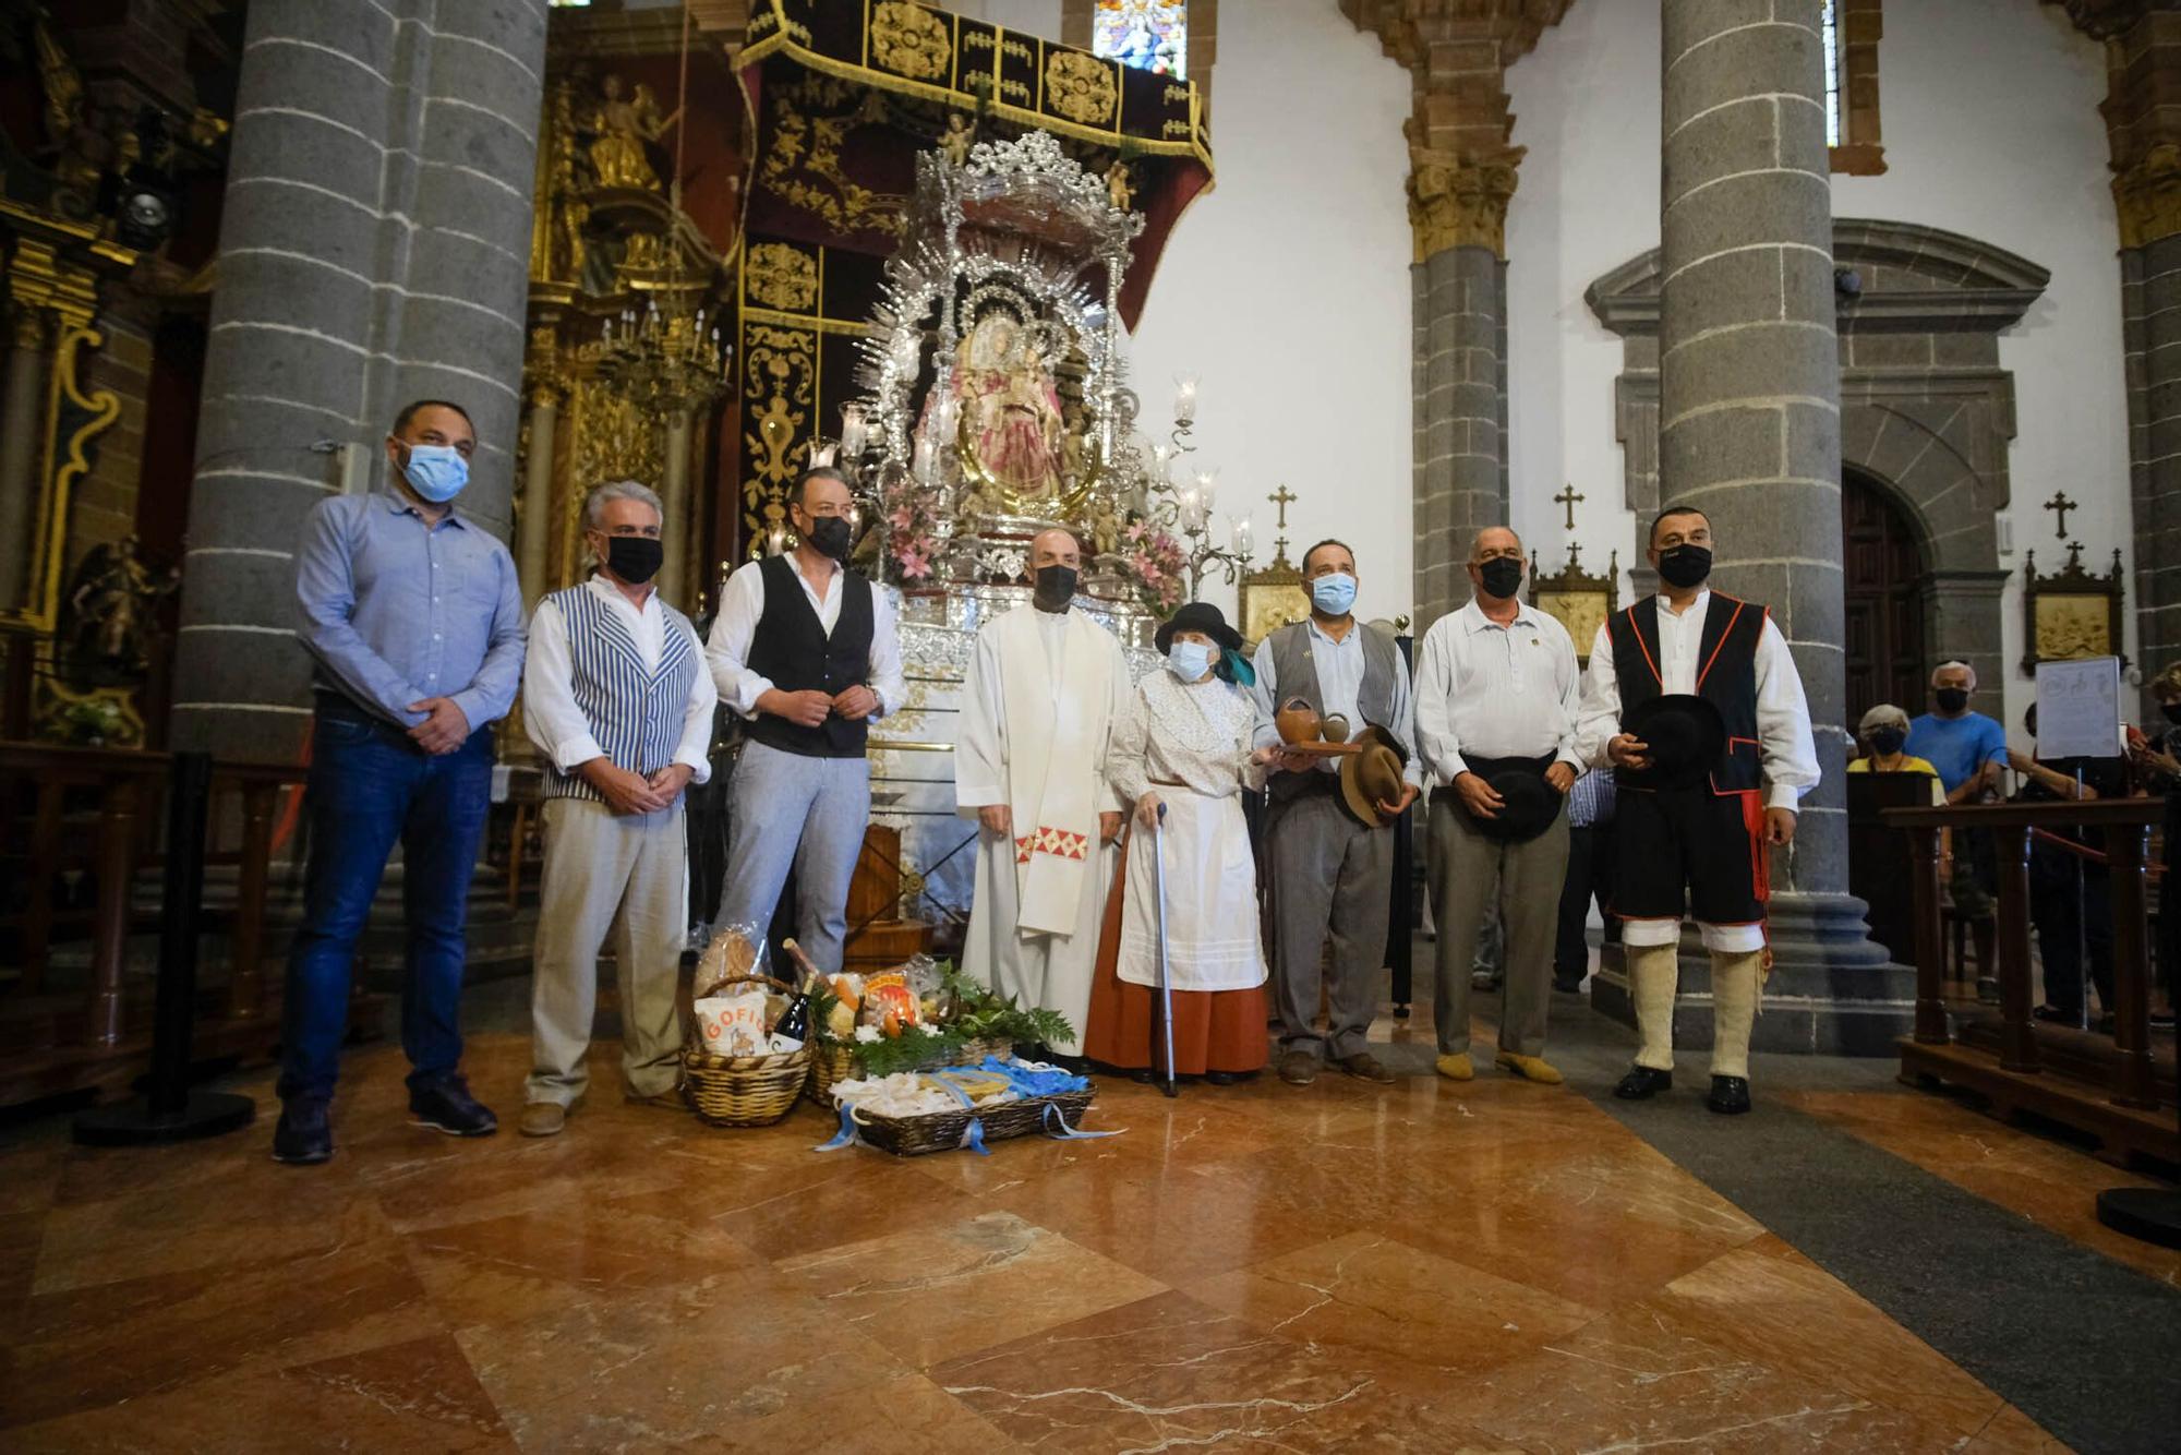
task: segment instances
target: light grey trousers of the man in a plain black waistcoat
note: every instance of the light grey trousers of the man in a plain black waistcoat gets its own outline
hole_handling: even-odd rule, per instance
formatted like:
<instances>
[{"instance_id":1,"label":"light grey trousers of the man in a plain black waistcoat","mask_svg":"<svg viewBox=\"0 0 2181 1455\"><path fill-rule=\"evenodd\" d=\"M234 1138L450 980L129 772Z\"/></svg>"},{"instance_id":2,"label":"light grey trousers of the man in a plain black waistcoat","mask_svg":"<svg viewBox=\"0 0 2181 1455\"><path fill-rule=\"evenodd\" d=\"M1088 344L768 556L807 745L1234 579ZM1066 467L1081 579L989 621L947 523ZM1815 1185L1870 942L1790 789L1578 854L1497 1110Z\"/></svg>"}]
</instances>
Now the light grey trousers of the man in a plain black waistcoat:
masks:
<instances>
[{"instance_id":1,"label":"light grey trousers of the man in a plain black waistcoat","mask_svg":"<svg viewBox=\"0 0 2181 1455\"><path fill-rule=\"evenodd\" d=\"M820 971L840 969L848 881L870 822L870 759L803 757L761 742L735 761L720 925L757 925L759 938L796 870L796 942ZM792 977L783 977L792 979Z\"/></svg>"}]
</instances>

